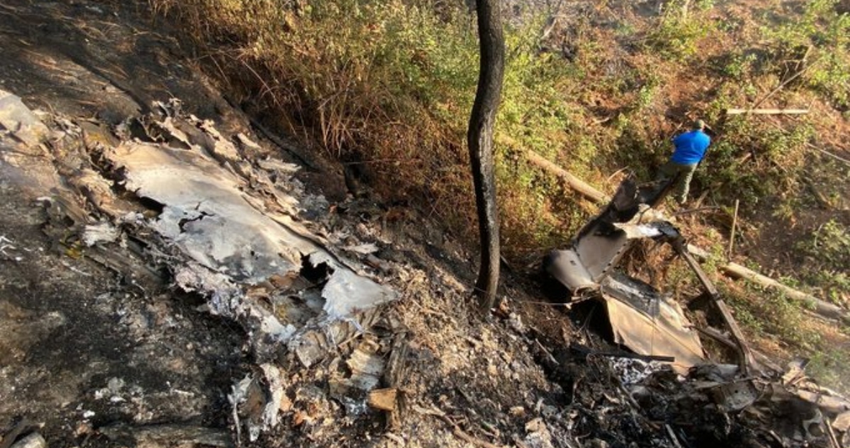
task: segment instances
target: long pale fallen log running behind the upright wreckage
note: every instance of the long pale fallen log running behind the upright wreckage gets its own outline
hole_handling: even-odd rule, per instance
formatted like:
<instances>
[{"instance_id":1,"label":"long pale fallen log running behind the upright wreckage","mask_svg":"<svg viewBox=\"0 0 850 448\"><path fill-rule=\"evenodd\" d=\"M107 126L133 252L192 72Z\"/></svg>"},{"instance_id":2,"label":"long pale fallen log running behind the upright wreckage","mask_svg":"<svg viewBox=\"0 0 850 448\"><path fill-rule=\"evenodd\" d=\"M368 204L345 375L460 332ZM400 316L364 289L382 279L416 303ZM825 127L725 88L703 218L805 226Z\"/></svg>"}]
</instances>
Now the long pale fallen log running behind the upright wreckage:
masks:
<instances>
[{"instance_id":1,"label":"long pale fallen log running behind the upright wreckage","mask_svg":"<svg viewBox=\"0 0 850 448\"><path fill-rule=\"evenodd\" d=\"M607 203L610 199L604 193L600 192L596 188L593 188L587 182L582 181L578 177L571 174L569 171L564 170L558 165L553 164L552 162L542 158L540 155L535 154L533 152L526 152L526 157L530 161L532 165L536 165L541 168L543 171L548 171L555 176L558 176L564 181L566 181L567 185L570 188L573 188L575 191L584 195L587 199L592 199L598 203ZM708 255L705 250L700 249L692 244L688 244L688 250L691 254L696 255L697 258L701 260L706 260ZM815 307L815 312L818 313L819 316L823 316L827 319L838 320L842 322L850 322L850 314L841 307L837 305L832 305L824 300L820 300L814 297L811 294L803 293L802 291L798 291L794 288L785 286L782 283L777 282L773 278L764 276L758 272L751 271L750 269L745 268L744 266L740 266L737 263L728 263L727 265L720 266L720 270L727 274L729 277L735 278L746 278L752 282L761 284L767 288L778 289L779 291L788 295L792 300L799 300L805 303L813 304Z\"/></svg>"}]
</instances>

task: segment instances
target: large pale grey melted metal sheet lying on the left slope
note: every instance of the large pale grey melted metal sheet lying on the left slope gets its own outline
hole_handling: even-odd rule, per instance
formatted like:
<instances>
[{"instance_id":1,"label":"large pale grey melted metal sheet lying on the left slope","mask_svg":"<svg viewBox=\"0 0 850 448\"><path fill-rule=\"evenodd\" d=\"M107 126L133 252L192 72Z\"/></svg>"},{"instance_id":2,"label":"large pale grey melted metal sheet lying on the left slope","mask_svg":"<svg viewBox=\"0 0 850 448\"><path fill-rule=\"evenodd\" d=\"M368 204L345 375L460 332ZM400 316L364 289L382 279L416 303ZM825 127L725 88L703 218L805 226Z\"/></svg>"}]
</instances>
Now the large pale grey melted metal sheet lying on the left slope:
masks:
<instances>
[{"instance_id":1,"label":"large pale grey melted metal sheet lying on the left slope","mask_svg":"<svg viewBox=\"0 0 850 448\"><path fill-rule=\"evenodd\" d=\"M163 205L151 227L214 272L256 284L275 274L297 274L304 260L324 264L328 278L321 295L331 320L397 296L343 265L296 222L247 200L244 182L199 151L126 142L107 156L124 170L127 190Z\"/></svg>"}]
</instances>

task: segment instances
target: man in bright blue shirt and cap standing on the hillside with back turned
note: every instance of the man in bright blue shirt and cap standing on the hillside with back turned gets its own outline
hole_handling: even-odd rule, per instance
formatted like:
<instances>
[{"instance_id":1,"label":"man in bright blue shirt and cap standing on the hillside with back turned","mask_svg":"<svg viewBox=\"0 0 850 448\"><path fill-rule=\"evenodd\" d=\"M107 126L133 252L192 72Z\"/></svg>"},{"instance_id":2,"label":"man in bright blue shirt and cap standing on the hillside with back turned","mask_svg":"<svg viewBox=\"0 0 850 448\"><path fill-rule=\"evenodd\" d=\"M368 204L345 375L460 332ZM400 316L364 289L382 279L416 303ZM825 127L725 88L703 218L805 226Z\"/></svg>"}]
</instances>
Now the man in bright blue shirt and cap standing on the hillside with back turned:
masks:
<instances>
[{"instance_id":1,"label":"man in bright blue shirt and cap standing on the hillside with back turned","mask_svg":"<svg viewBox=\"0 0 850 448\"><path fill-rule=\"evenodd\" d=\"M666 164L661 166L658 175L655 176L656 182L678 176L675 194L679 204L684 204L685 199L688 199L688 190L694 171L706 157L706 149L711 144L711 137L708 137L705 129L705 121L696 120L692 131L674 137L673 155Z\"/></svg>"}]
</instances>

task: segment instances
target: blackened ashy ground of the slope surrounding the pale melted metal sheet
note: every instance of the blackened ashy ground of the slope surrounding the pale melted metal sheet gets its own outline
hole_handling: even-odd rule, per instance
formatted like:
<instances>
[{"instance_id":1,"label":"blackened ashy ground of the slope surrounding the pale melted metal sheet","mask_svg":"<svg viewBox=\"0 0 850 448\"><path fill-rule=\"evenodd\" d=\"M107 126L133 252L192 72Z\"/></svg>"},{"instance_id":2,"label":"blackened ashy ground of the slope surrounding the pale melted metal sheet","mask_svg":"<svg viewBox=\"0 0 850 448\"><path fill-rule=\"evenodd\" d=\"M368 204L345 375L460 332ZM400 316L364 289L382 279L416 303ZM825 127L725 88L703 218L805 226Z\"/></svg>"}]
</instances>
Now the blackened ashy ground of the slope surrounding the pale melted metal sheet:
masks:
<instances>
[{"instance_id":1,"label":"blackened ashy ground of the slope surrounding the pale melted metal sheet","mask_svg":"<svg viewBox=\"0 0 850 448\"><path fill-rule=\"evenodd\" d=\"M102 210L68 180L96 167L88 148L115 144L116 126L154 111L155 101L178 98L222 134L252 136L262 148L248 156L299 162L292 148L252 128L198 70L192 48L173 37L179 30L152 20L147 8L0 5L0 89L23 98L51 130L41 152L0 146L4 160L15 160L0 163L0 434L7 437L21 428L37 429L51 447L246 443L235 437L228 399L235 383L258 371L243 326L202 311L205 298L173 286L167 263L139 255L141 240L91 248L79 241L80 227ZM536 283L519 272L505 274L505 304L484 321L469 302L475 263L463 244L423 225L415 210L352 199L342 170L313 162L300 179L331 204L303 219L377 244L386 284L399 292L383 307L382 326L354 343L388 353L384 341L394 336L383 333L404 335L406 405L396 422L353 412L329 390L334 361L305 369L282 359L280 423L246 445L772 445L740 424L764 414L730 418L705 394L656 393L677 391L670 372L655 379L653 393L627 391L606 358L567 349L599 344L587 321L574 325L541 304ZM156 214L151 204L136 205ZM145 428L159 428L166 440L114 435ZM210 439L184 435L193 429Z\"/></svg>"}]
</instances>

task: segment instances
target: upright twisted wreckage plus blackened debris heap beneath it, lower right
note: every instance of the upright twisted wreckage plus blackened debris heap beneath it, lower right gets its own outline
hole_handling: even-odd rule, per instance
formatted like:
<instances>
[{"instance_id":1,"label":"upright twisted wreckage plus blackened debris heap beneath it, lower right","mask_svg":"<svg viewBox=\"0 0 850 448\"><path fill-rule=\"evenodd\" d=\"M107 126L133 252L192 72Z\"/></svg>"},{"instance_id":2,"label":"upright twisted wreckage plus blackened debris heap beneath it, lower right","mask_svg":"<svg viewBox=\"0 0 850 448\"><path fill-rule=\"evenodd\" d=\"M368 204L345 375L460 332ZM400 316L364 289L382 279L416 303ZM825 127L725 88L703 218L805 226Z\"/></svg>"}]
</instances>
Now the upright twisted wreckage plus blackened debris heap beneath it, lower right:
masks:
<instances>
[{"instance_id":1,"label":"upright twisted wreckage plus blackened debris heap beneath it, lower right","mask_svg":"<svg viewBox=\"0 0 850 448\"><path fill-rule=\"evenodd\" d=\"M553 250L543 260L548 280L558 287L558 300L600 302L613 342L637 355L581 346L572 350L621 360L616 362L626 367L621 371L622 384L636 400L634 405L649 415L694 417L690 422L667 423L677 446L679 442L682 446L847 446L850 401L806 377L808 361L793 361L782 372L764 356L757 359L717 288L689 253L683 235L655 210L666 188L655 183L638 186L632 178L626 179L568 248ZM687 263L702 286L696 298L700 300L694 303L709 304L707 311L725 328L694 324L670 295L625 272L624 255L636 242L647 239L670 244ZM732 350L731 361L736 364L709 360L703 338ZM659 395L659 389L666 390ZM706 426L694 431L703 419L726 423L708 425L714 428L709 431L712 434L706 434Z\"/></svg>"}]
</instances>

